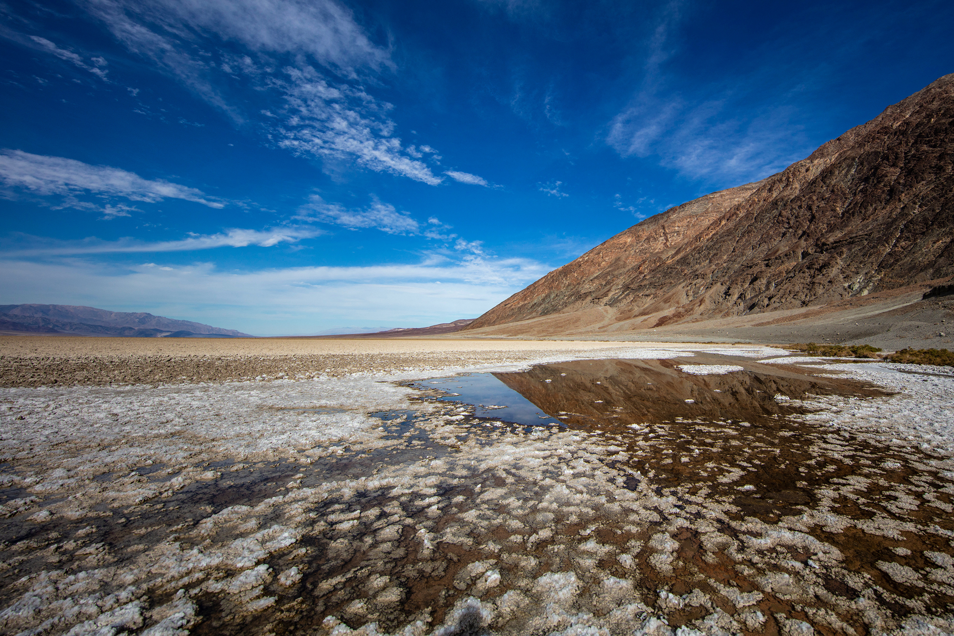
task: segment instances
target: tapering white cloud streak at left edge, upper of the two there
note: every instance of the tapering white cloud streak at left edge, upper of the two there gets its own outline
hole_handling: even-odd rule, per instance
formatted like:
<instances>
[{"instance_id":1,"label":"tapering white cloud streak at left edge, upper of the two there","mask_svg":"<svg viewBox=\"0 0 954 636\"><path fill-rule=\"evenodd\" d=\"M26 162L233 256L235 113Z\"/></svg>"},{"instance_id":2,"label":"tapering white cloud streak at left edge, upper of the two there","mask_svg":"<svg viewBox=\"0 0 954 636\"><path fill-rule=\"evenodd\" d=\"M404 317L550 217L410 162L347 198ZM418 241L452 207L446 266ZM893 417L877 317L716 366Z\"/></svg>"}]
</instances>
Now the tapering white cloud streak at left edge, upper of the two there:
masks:
<instances>
[{"instance_id":1,"label":"tapering white cloud streak at left edge, upper of the two there","mask_svg":"<svg viewBox=\"0 0 954 636\"><path fill-rule=\"evenodd\" d=\"M130 201L157 202L163 199L195 201L209 207L224 207L225 203L190 188L166 180L148 180L135 173L105 165L91 165L76 159L32 155L22 150L0 150L0 182L7 188L23 190L41 197L67 198L66 205L74 207L97 206L75 200L80 194L100 197L123 197ZM130 211L133 208L114 210ZM109 210L104 210L108 215ZM112 213L112 216L125 216Z\"/></svg>"}]
</instances>

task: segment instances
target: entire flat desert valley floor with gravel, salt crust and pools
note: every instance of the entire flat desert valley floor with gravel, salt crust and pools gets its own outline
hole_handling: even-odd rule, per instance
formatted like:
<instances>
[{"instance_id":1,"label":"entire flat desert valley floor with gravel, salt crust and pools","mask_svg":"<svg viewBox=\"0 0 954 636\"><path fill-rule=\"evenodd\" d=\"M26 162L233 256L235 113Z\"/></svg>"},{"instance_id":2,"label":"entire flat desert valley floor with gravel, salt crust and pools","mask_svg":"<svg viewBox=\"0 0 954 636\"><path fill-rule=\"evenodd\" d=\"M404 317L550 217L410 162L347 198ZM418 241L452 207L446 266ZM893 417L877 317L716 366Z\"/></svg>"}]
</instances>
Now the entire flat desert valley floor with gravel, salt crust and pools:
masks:
<instances>
[{"instance_id":1,"label":"entire flat desert valley floor with gravel, salt crust and pools","mask_svg":"<svg viewBox=\"0 0 954 636\"><path fill-rule=\"evenodd\" d=\"M954 370L0 338L7 634L943 634Z\"/></svg>"}]
</instances>

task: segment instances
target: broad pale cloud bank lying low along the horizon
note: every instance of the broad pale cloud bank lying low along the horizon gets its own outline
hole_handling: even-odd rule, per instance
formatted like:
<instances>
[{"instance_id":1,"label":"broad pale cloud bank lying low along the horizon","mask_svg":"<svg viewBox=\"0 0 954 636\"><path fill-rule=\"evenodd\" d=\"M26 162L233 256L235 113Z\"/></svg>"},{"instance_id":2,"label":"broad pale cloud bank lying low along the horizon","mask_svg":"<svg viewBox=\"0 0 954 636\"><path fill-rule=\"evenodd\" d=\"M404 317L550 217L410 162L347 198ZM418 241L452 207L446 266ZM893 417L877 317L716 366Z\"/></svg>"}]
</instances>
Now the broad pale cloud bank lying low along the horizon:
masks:
<instances>
[{"instance_id":1,"label":"broad pale cloud bank lying low along the horizon","mask_svg":"<svg viewBox=\"0 0 954 636\"><path fill-rule=\"evenodd\" d=\"M0 295L20 303L135 307L249 333L342 324L433 325L476 317L543 276L529 259L433 254L414 264L220 270L212 264L132 266L73 259L0 262Z\"/></svg>"}]
</instances>

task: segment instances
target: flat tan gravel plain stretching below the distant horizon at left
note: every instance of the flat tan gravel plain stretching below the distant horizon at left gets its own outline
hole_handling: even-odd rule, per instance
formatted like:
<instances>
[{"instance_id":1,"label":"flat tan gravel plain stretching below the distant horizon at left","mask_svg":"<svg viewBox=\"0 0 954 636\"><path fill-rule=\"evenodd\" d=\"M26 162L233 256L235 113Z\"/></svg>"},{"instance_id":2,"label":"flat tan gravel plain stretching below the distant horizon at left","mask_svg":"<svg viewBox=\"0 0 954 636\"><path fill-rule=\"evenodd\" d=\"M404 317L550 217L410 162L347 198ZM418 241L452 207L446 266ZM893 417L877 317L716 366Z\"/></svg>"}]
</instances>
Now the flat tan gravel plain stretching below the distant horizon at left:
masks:
<instances>
[{"instance_id":1,"label":"flat tan gravel plain stretching below the distant horizon at left","mask_svg":"<svg viewBox=\"0 0 954 636\"><path fill-rule=\"evenodd\" d=\"M343 377L510 363L619 343L0 336L0 387Z\"/></svg>"}]
</instances>

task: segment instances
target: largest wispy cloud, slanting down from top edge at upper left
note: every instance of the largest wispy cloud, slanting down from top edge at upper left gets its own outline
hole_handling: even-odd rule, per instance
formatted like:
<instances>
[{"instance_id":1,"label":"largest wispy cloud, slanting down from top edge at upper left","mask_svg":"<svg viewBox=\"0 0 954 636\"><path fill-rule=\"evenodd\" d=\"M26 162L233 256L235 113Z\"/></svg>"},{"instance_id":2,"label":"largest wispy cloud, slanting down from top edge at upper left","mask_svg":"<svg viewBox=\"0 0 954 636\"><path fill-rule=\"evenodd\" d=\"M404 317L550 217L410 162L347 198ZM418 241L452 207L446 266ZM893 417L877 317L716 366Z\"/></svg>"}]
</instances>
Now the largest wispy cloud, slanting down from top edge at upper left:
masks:
<instances>
[{"instance_id":1,"label":"largest wispy cloud, slanting down from top edge at upper left","mask_svg":"<svg viewBox=\"0 0 954 636\"><path fill-rule=\"evenodd\" d=\"M353 160L377 172L440 183L405 148L391 106L361 88L362 74L393 67L354 15L333 0L90 0L90 10L130 50L152 59L239 123L258 120L270 143L305 156ZM219 42L243 53L229 53ZM202 53L192 53L197 48ZM284 59L284 63L277 62ZM316 67L349 78L332 81ZM280 71L279 71L280 69ZM246 113L227 86L259 89L265 108ZM437 157L431 160L439 160Z\"/></svg>"}]
</instances>

